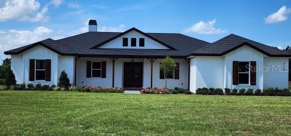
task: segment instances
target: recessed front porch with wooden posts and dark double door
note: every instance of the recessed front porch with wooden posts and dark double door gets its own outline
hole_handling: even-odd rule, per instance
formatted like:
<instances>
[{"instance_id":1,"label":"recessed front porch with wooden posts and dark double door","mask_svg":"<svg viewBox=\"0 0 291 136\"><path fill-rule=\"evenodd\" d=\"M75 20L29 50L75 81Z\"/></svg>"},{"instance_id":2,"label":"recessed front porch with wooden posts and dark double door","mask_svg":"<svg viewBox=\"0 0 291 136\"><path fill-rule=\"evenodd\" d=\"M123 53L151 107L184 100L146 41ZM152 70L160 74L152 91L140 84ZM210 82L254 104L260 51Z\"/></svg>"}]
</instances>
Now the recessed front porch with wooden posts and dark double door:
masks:
<instances>
[{"instance_id":1,"label":"recessed front porch with wooden posts and dark double door","mask_svg":"<svg viewBox=\"0 0 291 136\"><path fill-rule=\"evenodd\" d=\"M161 60L160 58L76 57L74 84L123 88L164 87L165 80L160 77ZM175 62L179 64L178 79L174 77L167 79L167 87L189 89L189 61L175 59ZM88 70L91 72L88 73Z\"/></svg>"}]
</instances>

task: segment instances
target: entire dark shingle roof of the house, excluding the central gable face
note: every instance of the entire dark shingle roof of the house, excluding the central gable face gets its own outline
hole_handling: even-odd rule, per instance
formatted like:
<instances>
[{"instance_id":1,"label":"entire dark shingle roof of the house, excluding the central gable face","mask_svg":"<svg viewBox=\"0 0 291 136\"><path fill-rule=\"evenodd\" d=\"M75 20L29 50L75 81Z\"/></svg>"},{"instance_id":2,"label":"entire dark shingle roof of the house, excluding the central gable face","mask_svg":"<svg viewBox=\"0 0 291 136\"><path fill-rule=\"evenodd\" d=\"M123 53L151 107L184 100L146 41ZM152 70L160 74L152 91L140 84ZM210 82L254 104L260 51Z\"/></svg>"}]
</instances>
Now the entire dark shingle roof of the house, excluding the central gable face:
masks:
<instances>
[{"instance_id":1,"label":"entire dark shingle roof of the house, excluding the central gable face","mask_svg":"<svg viewBox=\"0 0 291 136\"><path fill-rule=\"evenodd\" d=\"M132 28L133 29L133 28ZM143 33L143 32L142 32ZM19 54L36 45L42 45L61 55L95 56L95 57L172 57L186 58L186 56L210 55L221 56L243 45L248 45L268 56L291 57L291 54L270 47L241 36L230 34L214 43L205 42L183 34L171 33L144 33L163 45L172 49L99 49L102 43L112 40L123 33L118 32L87 32L59 40L46 39L14 50L5 51L5 54ZM95 48L95 49L92 49Z\"/></svg>"}]
</instances>

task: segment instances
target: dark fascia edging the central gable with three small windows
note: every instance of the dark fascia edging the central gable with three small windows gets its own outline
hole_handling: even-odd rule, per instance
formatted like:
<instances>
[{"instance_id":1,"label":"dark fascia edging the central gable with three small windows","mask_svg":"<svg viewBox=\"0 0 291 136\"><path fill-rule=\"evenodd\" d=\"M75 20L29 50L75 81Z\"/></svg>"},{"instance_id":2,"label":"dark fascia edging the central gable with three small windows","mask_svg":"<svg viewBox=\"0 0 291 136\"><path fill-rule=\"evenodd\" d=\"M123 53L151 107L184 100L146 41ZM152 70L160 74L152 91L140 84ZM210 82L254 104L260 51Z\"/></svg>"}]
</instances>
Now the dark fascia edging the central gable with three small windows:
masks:
<instances>
[{"instance_id":1,"label":"dark fascia edging the central gable with three small windows","mask_svg":"<svg viewBox=\"0 0 291 136\"><path fill-rule=\"evenodd\" d=\"M106 41L104 41L104 42L102 42L102 43L100 43L100 44L98 44L98 45L96 45L96 46L90 48L90 49L97 49L97 48L100 47L101 45L104 45L105 43L108 43L108 42L112 41L113 39L116 39L117 37L120 37L120 36L122 36L122 35L124 35L124 34L127 34L127 33L131 32L131 31L133 31L133 30L136 31L136 32L138 32L138 33L140 33L140 34L143 34L143 35L145 35L145 36L151 38L152 40L154 40L154 41L156 41L156 42L162 44L163 46L166 46L166 47L168 47L168 48L170 48L170 49L172 49L172 50L177 50L177 49L175 49L175 48L173 48L173 47L171 47L171 46L169 46L169 45L163 43L162 41L156 39L155 37L153 37L153 36L151 36L151 35L149 35L149 34L146 34L146 33L142 32L142 31L140 31L140 30L138 30L138 29L136 29L136 28L134 28L134 27L133 27L133 28L130 28L129 30L127 30L127 31L125 31L125 32L123 32L123 33L117 34L117 35L113 36L112 38L110 38L110 39L108 39L108 40L106 40Z\"/></svg>"}]
</instances>

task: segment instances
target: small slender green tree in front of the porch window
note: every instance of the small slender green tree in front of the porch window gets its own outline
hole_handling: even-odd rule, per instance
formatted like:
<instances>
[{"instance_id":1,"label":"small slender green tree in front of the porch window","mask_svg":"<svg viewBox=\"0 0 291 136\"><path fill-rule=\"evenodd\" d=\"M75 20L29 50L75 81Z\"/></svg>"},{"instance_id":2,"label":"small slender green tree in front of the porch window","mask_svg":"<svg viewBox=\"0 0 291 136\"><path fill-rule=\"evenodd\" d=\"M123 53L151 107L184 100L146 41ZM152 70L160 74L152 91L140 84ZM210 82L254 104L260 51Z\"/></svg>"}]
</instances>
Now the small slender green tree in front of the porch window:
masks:
<instances>
[{"instance_id":1,"label":"small slender green tree in front of the porch window","mask_svg":"<svg viewBox=\"0 0 291 136\"><path fill-rule=\"evenodd\" d=\"M176 66L175 60L169 56L166 56L164 59L162 59L160 63L160 69L164 72L166 82L165 87L167 87L167 75L173 74L175 66Z\"/></svg>"}]
</instances>

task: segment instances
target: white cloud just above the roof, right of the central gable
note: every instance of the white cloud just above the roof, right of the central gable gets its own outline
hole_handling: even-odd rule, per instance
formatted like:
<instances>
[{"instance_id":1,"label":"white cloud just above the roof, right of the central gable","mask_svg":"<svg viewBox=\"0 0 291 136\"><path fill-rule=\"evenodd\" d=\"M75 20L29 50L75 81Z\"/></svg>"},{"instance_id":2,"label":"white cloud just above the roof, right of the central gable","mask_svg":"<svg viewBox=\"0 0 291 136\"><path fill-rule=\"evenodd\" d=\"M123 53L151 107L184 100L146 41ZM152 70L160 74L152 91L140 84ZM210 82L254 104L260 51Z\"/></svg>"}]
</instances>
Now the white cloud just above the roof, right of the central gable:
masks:
<instances>
[{"instance_id":1,"label":"white cloud just above the roof, right of the central gable","mask_svg":"<svg viewBox=\"0 0 291 136\"><path fill-rule=\"evenodd\" d=\"M184 30L185 33L197 33L197 34L222 34L226 33L227 30L221 30L214 28L216 19L213 19L212 21L208 21L207 23L204 21L200 21L191 27Z\"/></svg>"}]
</instances>

